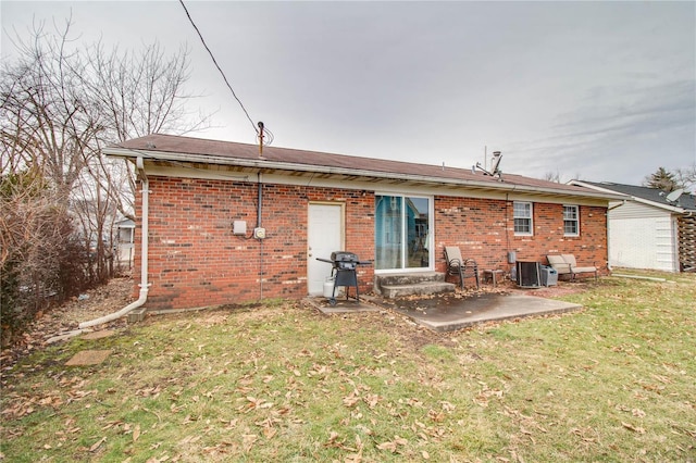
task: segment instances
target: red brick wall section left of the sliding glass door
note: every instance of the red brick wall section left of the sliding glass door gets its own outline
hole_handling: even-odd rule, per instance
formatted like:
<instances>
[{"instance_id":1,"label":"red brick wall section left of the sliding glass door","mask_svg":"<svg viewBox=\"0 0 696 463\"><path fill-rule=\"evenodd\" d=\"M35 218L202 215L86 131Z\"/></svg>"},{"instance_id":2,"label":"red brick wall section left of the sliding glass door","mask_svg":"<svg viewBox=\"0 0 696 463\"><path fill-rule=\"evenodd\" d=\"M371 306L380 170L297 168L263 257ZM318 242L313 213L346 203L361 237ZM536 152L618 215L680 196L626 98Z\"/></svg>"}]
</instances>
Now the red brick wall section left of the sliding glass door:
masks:
<instances>
[{"instance_id":1,"label":"red brick wall section left of the sliding glass door","mask_svg":"<svg viewBox=\"0 0 696 463\"><path fill-rule=\"evenodd\" d=\"M257 225L257 184L150 177L149 283L152 310L240 303L307 295L307 214L310 201L345 203L346 249L374 255L374 195L314 187L263 185L261 226L268 238L235 236L234 221ZM140 216L141 198L136 201ZM141 224L136 242L140 243ZM369 256L369 258L365 258ZM136 268L140 268L139 254ZM260 274L263 274L261 281ZM361 291L372 268L360 267ZM135 272L139 280L140 274ZM138 281L139 283L139 281Z\"/></svg>"}]
</instances>

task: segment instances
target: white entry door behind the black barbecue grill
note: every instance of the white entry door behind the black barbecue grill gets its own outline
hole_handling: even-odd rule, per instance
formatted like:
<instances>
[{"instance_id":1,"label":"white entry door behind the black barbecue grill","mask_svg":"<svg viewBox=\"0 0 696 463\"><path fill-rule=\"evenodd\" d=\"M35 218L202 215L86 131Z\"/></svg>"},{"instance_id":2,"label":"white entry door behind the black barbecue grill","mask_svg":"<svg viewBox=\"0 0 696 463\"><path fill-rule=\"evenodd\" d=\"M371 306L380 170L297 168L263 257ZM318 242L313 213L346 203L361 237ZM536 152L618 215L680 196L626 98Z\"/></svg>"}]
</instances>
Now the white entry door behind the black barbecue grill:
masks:
<instances>
[{"instance_id":1,"label":"white entry door behind the black barbecue grill","mask_svg":"<svg viewBox=\"0 0 696 463\"><path fill-rule=\"evenodd\" d=\"M344 209L341 204L309 204L307 224L307 292L320 296L331 276L332 264L316 258L331 259L344 249Z\"/></svg>"}]
</instances>

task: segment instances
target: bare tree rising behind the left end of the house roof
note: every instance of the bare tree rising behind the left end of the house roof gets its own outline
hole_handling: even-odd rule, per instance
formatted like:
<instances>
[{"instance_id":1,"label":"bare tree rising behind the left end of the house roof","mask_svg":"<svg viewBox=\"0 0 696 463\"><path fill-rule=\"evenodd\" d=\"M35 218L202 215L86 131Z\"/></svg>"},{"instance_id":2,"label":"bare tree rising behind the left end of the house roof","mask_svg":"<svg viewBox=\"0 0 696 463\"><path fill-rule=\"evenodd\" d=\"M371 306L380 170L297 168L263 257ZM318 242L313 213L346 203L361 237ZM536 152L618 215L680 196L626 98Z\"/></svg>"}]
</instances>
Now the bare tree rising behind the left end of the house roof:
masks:
<instances>
[{"instance_id":1,"label":"bare tree rising behind the left end of the house roof","mask_svg":"<svg viewBox=\"0 0 696 463\"><path fill-rule=\"evenodd\" d=\"M102 43L88 48L90 58L83 74L83 89L100 114L102 130L98 142L125 141L154 133L185 134L210 126L210 115L192 117L187 104L196 95L185 89L188 80L188 51L179 48L169 58L159 42L139 52L107 51ZM130 218L135 178L123 162L100 159L91 173L100 178L119 211ZM109 185L124 188L108 188Z\"/></svg>"}]
</instances>

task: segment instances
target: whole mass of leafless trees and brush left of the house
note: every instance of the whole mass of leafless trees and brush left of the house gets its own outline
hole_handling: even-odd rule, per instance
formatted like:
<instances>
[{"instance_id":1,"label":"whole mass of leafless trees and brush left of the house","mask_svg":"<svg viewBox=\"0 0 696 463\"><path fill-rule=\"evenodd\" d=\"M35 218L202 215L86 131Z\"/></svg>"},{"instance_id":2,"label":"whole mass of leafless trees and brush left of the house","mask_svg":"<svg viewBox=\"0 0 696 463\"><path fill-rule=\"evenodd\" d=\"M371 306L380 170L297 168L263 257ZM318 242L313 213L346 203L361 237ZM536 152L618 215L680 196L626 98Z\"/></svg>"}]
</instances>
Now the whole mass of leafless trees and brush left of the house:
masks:
<instances>
[{"instance_id":1,"label":"whole mass of leafless trees and brush left of the house","mask_svg":"<svg viewBox=\"0 0 696 463\"><path fill-rule=\"evenodd\" d=\"M135 182L132 167L104 160L103 146L210 125L210 116L187 110L196 96L184 89L185 49L80 47L71 26L66 20L49 32L39 24L29 39L15 39L16 58L0 67L0 276L12 270L15 295L34 280L63 295L109 276L111 229L119 211L134 218L134 189L124 185ZM70 248L76 243L78 259ZM4 323L10 281L2 283Z\"/></svg>"}]
</instances>

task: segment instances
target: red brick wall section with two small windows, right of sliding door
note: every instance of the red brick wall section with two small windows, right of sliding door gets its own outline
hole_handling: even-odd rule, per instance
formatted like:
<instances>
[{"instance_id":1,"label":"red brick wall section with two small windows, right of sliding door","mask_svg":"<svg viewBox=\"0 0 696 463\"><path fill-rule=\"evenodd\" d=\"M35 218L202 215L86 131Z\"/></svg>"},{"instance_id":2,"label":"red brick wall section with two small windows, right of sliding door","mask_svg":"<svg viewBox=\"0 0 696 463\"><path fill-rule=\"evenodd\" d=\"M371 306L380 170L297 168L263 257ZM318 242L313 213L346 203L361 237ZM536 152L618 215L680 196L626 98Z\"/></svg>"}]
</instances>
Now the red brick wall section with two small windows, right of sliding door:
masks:
<instances>
[{"instance_id":1,"label":"red brick wall section with two small windows, right of sliding door","mask_svg":"<svg viewBox=\"0 0 696 463\"><path fill-rule=\"evenodd\" d=\"M435 197L436 270L445 271L445 246L459 246L480 268L508 271L508 251L518 261L547 264L547 254L575 254L579 265L606 267L607 209L580 207L580 236L563 236L563 205L533 203L533 236L515 236L513 201Z\"/></svg>"}]
</instances>

